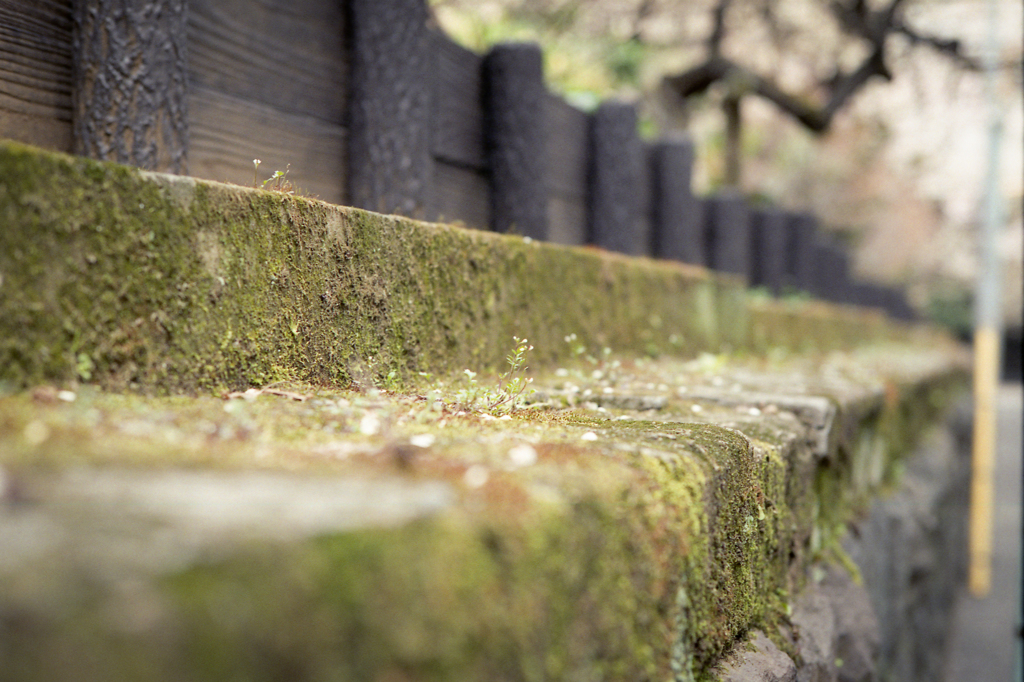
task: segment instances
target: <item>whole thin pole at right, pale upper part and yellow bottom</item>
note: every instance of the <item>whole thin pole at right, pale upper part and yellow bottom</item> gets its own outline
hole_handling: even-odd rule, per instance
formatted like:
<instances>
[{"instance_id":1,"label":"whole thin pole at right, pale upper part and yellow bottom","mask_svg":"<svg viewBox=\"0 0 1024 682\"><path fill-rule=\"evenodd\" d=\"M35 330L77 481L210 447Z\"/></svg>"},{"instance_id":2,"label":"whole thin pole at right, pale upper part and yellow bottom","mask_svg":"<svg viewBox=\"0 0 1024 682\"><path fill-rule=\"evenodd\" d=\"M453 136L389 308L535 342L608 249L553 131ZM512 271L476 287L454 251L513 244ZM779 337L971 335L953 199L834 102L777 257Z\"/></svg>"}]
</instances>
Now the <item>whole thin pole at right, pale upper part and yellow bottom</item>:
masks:
<instances>
[{"instance_id":1,"label":"whole thin pole at right, pale upper part and yellow bottom","mask_svg":"<svg viewBox=\"0 0 1024 682\"><path fill-rule=\"evenodd\" d=\"M988 171L985 214L980 235L980 270L975 296L974 444L971 483L971 566L968 586L976 597L991 587L992 468L995 453L995 395L999 374L999 258L996 251L1001 210L998 196L999 143L1002 123L995 95L996 0L988 0L985 50L985 95L989 110Z\"/></svg>"}]
</instances>

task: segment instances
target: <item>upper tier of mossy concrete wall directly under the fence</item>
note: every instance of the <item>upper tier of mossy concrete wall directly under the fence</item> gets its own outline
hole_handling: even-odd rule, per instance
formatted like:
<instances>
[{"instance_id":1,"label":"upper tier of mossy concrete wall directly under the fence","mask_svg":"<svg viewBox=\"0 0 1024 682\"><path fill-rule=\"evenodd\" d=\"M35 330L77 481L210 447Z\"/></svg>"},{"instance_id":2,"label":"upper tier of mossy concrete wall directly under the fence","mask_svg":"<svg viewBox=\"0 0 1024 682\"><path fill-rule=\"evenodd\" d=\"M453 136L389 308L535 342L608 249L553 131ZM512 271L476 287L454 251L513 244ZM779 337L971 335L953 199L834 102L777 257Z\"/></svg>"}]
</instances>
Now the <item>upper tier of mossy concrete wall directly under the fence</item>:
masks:
<instances>
[{"instance_id":1,"label":"upper tier of mossy concrete wall directly under the fence","mask_svg":"<svg viewBox=\"0 0 1024 682\"><path fill-rule=\"evenodd\" d=\"M851 347L877 313L752 304L701 268L0 142L0 380L182 392L411 385L620 352Z\"/></svg>"}]
</instances>

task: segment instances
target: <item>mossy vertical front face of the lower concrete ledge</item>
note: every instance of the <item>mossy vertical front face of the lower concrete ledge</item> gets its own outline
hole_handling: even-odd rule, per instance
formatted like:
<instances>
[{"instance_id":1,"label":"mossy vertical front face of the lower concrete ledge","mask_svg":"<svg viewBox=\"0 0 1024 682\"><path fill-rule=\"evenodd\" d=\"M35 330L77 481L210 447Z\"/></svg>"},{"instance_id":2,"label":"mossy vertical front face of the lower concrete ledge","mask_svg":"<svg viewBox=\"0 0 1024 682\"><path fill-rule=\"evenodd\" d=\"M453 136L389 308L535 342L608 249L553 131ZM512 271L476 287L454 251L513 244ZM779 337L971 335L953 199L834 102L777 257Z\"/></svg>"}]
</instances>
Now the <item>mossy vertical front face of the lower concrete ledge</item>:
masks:
<instances>
[{"instance_id":1,"label":"mossy vertical front face of the lower concrete ledge","mask_svg":"<svg viewBox=\"0 0 1024 682\"><path fill-rule=\"evenodd\" d=\"M790 563L765 567L762 561L768 554L755 560L749 552L742 553L746 526L753 523L760 528L764 522L758 520L757 511L764 508L764 503L759 502L754 487L741 483L756 481L769 497L782 487L791 489L785 495L797 496L785 505L793 507L794 516L776 519L778 526L772 532L797 539L797 546L804 548L797 561L802 564L809 558L805 543L813 535L811 525L822 526L820 535L841 524L850 505L877 492L881 483L860 480L860 485L867 485L861 489L853 485L858 481L858 471L864 468L862 460L874 456L871 438L862 436L886 432L888 437L902 434L906 442L912 442L921 429L936 421L946 402L941 397L948 397L948 392L963 383L964 376L955 366L936 361L922 365L915 372L890 373L887 379L892 390L865 387L844 394L819 393L808 399L779 396L774 402L763 394L750 396L764 407L776 403L783 411L794 411L798 419L790 423L798 425L797 430L780 431L775 438L766 433L748 438L734 430L709 425L688 432L686 437L695 450L684 445L683 451L690 453L687 457L674 455L675 451L668 446L645 452L640 442L634 442L632 450L638 458L625 462L599 458L600 463L589 470L590 475L558 479L561 482L555 489L561 496L560 502L550 498L549 480L544 484L547 487L542 485L549 491L548 497L534 499L519 510L518 516L508 513L514 508L505 508L504 520L489 524L481 525L479 516L467 516L464 509L438 514L438 509L451 504L443 496L414 491L410 497L423 498L426 507L433 506L433 514L428 509L414 514L426 514L425 518L391 528L324 532L319 539L300 543L257 543L226 559L200 562L176 571L158 586L156 596L148 588L140 594L137 581L132 582L129 576L127 587L119 588L127 590L127 594L115 590L112 608L124 608L129 613L141 609L144 614L146 608L153 607L147 600L157 599L165 606L161 600L173 602L173 617L160 608L157 612L162 615L154 616L156 620L148 625L138 616L144 626L140 626L145 643L141 650L151 657L154 670L164 673L171 670L172 652L179 653L182 648L196 651L212 646L228 655L226 652L256 646L266 637L269 640L259 646L267 651L255 659L241 656L219 665L247 669L250 665L269 665L278 656L306 670L304 667L321 665L321 656L328 656L328 663L323 665L338 666L338 670L365 665L383 671L398 667L407 674L415 669L423 674L432 665L445 666L450 668L444 670L453 671L449 679L501 679L499 673L504 667L525 670L530 666L553 666L549 672L557 676L559 672L581 673L588 666L600 665L617 671L608 673L610 679L703 669L726 650L733 638L762 625L769 616L778 616L782 602L743 601L742 595L751 589L742 588L744 581L756 580L763 596L776 599L778 590L794 587L791 571L803 570L801 565ZM722 404L721 396L697 399L703 401L707 411ZM822 413L813 412L818 408ZM836 435L820 438L817 431L821 425ZM637 428L638 434L656 433L664 429L678 431L679 425L650 422ZM814 443L822 441L829 444L824 452L816 451ZM868 446L858 447L862 442ZM701 456L694 457L698 453ZM895 458L899 453L889 455ZM811 479L820 459L830 460L828 470L837 479L836 485L823 491L794 485L794 478L805 483ZM627 466L623 468L623 464ZM617 475L609 476L615 472ZM694 487L694 482L699 484ZM772 486L778 488L774 494ZM831 514L818 516L820 512L814 511L816 496L848 487L849 500L828 500L835 507ZM817 501L819 506L823 503ZM714 520L699 520L712 510L717 510ZM769 518L773 518L771 513L769 510ZM646 526L645 519L668 522L667 527L676 532L658 535L658 524ZM796 531L788 528L786 519L796 523ZM701 529L710 532L713 527L719 540L709 540L700 554L695 546ZM762 537L763 532L768 535ZM768 526L757 534L758 542L777 542L771 541ZM721 545L716 547L716 542ZM744 557L746 567L730 573L735 570L729 568L730 557L736 552L740 552L736 556ZM705 559L698 560L700 556ZM757 571L745 572L758 564L762 567ZM60 577L67 580L68 573ZM89 582L87 576L82 578ZM711 594L703 592L709 586L714 586ZM93 583L90 589L94 588ZM224 591L239 603L222 603ZM481 603L480 595L492 595L494 602ZM738 601L720 601L725 598ZM568 611L559 610L561 599L571 605ZM317 610L312 606L316 603L326 604L323 608L327 610ZM300 604L306 604L303 610L293 611ZM229 609L226 616L219 612L225 607ZM230 615L230 608L247 613L263 607L271 609L265 621ZM312 610L305 610L308 608ZM553 614L559 612L564 613L565 622L552 621ZM323 619L329 613L340 621L333 622L333 626L325 624ZM24 611L22 616L26 616ZM652 621L646 620L650 616L654 616ZM413 625L400 626L403 619ZM72 621L72 625L81 624ZM326 631L321 630L324 627ZM334 627L342 627L345 632L354 629L351 636L367 647L366 651L349 652L355 663L331 663L331 645L327 642L333 640L325 642L323 638L329 637ZM74 640L69 644L61 639L69 635L59 630L59 624L44 620L36 622L34 628L44 633L42 637L56 637L51 642L54 647L74 648ZM307 648L287 636L279 639L271 635L289 629L304 635L312 633L313 643ZM473 640L477 636L473 633L481 631L490 635L482 642ZM145 633L156 633L156 638L145 639ZM432 633L437 641L418 639L426 633ZM470 646L467 638L476 644ZM90 645L110 654L113 663L104 665L129 665L130 659L125 663L114 655L114 649L104 648L116 646L116 641L117 637L92 640ZM466 646L469 650L464 649ZM595 650L601 655L594 654ZM301 660L306 655L302 651L315 651L315 656ZM196 674L223 670L217 668L216 660L189 665L195 666ZM123 672L110 667L103 671Z\"/></svg>"}]
</instances>

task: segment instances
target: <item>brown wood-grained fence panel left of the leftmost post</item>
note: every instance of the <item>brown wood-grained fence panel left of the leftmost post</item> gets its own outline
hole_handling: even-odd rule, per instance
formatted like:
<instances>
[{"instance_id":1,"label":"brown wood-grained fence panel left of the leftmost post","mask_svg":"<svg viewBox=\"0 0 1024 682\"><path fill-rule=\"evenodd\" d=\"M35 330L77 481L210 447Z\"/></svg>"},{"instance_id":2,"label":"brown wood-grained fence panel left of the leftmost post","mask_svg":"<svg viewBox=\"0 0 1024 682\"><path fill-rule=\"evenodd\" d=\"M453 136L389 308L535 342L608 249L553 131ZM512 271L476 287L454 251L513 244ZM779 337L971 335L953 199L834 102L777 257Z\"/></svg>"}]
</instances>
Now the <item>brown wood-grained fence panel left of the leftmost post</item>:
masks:
<instances>
[{"instance_id":1,"label":"brown wood-grained fence panel left of the leftmost post","mask_svg":"<svg viewBox=\"0 0 1024 682\"><path fill-rule=\"evenodd\" d=\"M71 152L71 0L0 1L0 137Z\"/></svg>"}]
</instances>

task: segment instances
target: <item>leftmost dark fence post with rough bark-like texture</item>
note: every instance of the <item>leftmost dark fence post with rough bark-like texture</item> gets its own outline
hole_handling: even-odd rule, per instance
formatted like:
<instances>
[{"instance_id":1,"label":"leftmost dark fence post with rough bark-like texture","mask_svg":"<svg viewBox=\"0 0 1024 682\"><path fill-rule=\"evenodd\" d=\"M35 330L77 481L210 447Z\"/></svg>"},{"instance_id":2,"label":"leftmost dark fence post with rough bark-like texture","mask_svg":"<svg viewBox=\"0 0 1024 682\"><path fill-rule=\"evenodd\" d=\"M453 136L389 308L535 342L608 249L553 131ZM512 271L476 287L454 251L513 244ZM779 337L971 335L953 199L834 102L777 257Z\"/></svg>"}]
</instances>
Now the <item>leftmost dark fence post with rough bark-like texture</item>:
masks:
<instances>
[{"instance_id":1,"label":"leftmost dark fence post with rough bark-like texture","mask_svg":"<svg viewBox=\"0 0 1024 682\"><path fill-rule=\"evenodd\" d=\"M188 171L185 0L76 0L75 154Z\"/></svg>"}]
</instances>

